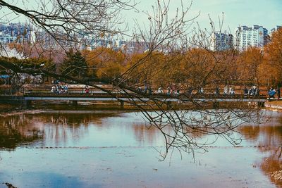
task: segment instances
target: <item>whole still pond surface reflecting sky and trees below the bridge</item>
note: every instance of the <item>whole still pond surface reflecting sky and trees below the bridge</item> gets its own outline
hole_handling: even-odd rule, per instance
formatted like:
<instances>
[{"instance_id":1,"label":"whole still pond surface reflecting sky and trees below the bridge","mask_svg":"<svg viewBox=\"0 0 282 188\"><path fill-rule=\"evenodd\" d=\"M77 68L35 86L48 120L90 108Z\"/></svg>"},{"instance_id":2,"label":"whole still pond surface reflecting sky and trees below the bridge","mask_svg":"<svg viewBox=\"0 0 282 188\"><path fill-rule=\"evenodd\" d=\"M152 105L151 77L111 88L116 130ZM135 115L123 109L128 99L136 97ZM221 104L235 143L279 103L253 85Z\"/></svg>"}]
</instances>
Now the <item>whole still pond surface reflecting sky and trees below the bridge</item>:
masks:
<instances>
[{"instance_id":1,"label":"whole still pond surface reflecting sky and trees below the bridge","mask_svg":"<svg viewBox=\"0 0 282 188\"><path fill-rule=\"evenodd\" d=\"M206 153L173 152L141 113L29 111L0 117L0 187L281 187L282 113Z\"/></svg>"}]
</instances>

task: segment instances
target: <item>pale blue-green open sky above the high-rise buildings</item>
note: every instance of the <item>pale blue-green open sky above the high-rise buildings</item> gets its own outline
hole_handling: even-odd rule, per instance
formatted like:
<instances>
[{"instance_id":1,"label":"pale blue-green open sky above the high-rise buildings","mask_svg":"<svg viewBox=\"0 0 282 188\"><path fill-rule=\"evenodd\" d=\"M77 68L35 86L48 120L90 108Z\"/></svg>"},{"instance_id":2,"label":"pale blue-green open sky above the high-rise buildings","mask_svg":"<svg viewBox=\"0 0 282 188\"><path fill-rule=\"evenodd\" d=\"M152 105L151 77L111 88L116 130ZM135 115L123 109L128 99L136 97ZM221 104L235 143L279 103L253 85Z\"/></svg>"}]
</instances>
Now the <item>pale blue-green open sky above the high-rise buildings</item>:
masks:
<instances>
[{"instance_id":1,"label":"pale blue-green open sky above the high-rise buildings","mask_svg":"<svg viewBox=\"0 0 282 188\"><path fill-rule=\"evenodd\" d=\"M164 0L168 2L168 0ZM137 5L142 11L152 11L151 5L155 4L154 0L141 0ZM190 0L183 0L185 6L189 6ZM180 0L170 1L170 13L176 12L180 6ZM219 30L219 16L224 15L223 30L234 33L239 26L262 25L267 30L271 30L276 25L282 25L282 0L193 0L188 18L193 18L200 13L195 21L202 28L210 29L209 16L214 21L216 30ZM134 15L130 16L139 22L146 22L147 16Z\"/></svg>"}]
</instances>

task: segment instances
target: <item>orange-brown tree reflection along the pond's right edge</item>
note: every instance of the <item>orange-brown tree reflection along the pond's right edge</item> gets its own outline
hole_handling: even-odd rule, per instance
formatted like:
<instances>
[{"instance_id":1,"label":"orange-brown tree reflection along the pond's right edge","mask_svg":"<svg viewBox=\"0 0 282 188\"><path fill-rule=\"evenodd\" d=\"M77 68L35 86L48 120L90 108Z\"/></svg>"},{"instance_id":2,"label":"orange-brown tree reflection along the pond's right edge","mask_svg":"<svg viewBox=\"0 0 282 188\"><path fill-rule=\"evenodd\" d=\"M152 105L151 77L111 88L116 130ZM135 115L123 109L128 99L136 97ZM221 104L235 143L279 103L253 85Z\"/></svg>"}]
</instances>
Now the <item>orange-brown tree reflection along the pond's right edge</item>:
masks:
<instances>
[{"instance_id":1,"label":"orange-brown tree reflection along the pond's right edge","mask_svg":"<svg viewBox=\"0 0 282 188\"><path fill-rule=\"evenodd\" d=\"M282 187L282 118L279 125L243 126L240 132L252 142L258 142L259 151L268 152L259 164L263 172L278 187Z\"/></svg>"}]
</instances>

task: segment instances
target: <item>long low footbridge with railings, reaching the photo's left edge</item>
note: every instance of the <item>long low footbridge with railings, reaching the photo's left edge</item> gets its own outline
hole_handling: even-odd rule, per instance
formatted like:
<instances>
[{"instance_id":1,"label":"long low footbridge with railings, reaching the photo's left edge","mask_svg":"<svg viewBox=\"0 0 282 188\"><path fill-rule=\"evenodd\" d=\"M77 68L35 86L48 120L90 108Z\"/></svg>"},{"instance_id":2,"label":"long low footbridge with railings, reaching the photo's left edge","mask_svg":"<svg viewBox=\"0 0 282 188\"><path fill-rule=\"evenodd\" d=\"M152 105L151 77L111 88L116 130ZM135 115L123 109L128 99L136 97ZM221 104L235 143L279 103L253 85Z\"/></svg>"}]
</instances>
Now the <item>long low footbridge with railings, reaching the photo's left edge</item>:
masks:
<instances>
[{"instance_id":1,"label":"long low footbridge with railings, reaching the photo's left edge","mask_svg":"<svg viewBox=\"0 0 282 188\"><path fill-rule=\"evenodd\" d=\"M238 92L240 93L240 92ZM167 95L167 94L133 94L126 96L122 92L112 91L111 94L106 92L101 92L99 90L90 90L90 93L83 92L82 88L72 89L67 93L54 94L45 89L44 91L33 88L25 89L22 94L15 95L1 95L0 102L7 101L18 101L27 106L32 104L32 101L72 101L73 105L78 105L78 101L117 101L121 106L126 102L130 101L159 101L167 106L171 106L173 102L210 102L214 107L219 106L219 102L254 102L257 106L264 106L264 103L268 100L265 94L259 96L245 96L244 94L234 94L234 95L223 95L223 94L213 94L212 92L207 92L204 94L192 94L188 95L185 92L178 95Z\"/></svg>"}]
</instances>

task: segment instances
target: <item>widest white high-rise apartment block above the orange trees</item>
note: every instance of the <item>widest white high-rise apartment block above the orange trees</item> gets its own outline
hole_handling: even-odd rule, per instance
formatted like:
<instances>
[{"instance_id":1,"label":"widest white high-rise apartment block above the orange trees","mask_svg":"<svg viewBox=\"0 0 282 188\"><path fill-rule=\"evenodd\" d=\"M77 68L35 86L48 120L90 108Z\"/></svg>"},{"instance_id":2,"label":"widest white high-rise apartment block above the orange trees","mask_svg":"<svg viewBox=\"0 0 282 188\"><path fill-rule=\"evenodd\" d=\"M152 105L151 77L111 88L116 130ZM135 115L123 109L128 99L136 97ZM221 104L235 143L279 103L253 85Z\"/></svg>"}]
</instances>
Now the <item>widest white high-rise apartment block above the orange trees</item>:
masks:
<instances>
[{"instance_id":1,"label":"widest white high-rise apartment block above the orange trees","mask_svg":"<svg viewBox=\"0 0 282 188\"><path fill-rule=\"evenodd\" d=\"M235 32L235 47L243 51L250 46L262 48L268 41L267 30L259 25L241 26Z\"/></svg>"}]
</instances>

